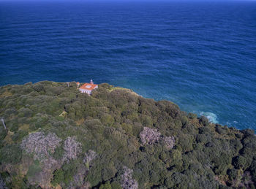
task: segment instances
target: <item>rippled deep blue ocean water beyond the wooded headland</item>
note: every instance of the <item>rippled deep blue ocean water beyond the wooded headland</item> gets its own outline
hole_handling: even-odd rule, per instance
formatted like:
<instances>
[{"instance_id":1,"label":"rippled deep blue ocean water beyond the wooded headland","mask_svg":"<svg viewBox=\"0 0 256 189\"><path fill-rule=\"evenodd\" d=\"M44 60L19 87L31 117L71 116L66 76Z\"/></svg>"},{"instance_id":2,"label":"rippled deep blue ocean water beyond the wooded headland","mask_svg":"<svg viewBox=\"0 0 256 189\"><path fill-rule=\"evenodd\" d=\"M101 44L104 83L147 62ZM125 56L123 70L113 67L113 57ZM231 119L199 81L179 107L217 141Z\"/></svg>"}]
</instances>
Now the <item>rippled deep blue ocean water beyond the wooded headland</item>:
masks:
<instances>
[{"instance_id":1,"label":"rippled deep blue ocean water beyond the wooded headland","mask_svg":"<svg viewBox=\"0 0 256 189\"><path fill-rule=\"evenodd\" d=\"M109 82L256 128L256 2L0 2L0 85Z\"/></svg>"}]
</instances>

